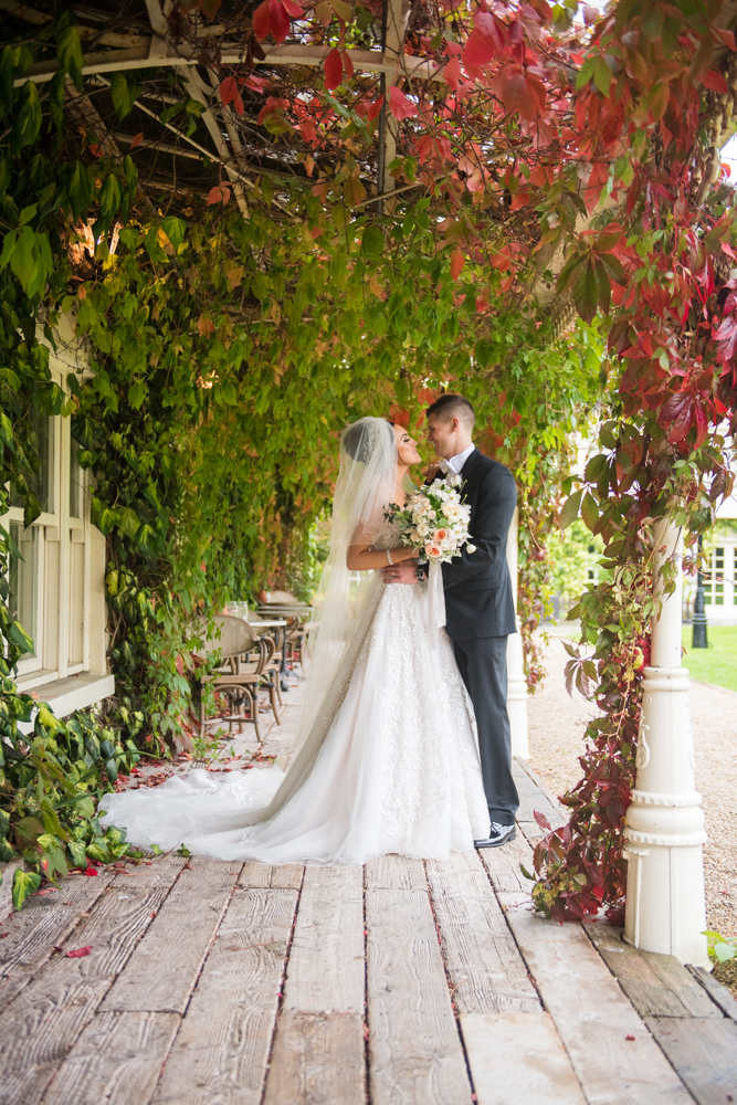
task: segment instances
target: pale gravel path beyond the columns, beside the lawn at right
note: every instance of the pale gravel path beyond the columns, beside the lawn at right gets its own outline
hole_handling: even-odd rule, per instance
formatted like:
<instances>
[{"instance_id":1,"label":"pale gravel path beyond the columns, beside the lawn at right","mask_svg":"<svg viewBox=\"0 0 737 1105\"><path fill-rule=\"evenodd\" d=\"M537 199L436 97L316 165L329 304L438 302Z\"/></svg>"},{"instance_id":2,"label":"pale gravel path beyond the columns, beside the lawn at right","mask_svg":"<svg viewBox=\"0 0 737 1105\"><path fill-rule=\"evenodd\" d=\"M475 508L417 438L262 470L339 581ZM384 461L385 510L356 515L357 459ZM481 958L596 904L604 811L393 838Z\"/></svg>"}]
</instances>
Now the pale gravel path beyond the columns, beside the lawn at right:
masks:
<instances>
[{"instance_id":1,"label":"pale gravel path beyond the columns, beside the lawn at right","mask_svg":"<svg viewBox=\"0 0 737 1105\"><path fill-rule=\"evenodd\" d=\"M581 738L596 707L579 695L568 697L564 683L566 652L552 639L546 651L545 687L528 698L531 767L554 794L580 778ZM709 928L737 935L737 693L693 683L691 715L696 755L696 787L706 812L704 846L706 918Z\"/></svg>"}]
</instances>

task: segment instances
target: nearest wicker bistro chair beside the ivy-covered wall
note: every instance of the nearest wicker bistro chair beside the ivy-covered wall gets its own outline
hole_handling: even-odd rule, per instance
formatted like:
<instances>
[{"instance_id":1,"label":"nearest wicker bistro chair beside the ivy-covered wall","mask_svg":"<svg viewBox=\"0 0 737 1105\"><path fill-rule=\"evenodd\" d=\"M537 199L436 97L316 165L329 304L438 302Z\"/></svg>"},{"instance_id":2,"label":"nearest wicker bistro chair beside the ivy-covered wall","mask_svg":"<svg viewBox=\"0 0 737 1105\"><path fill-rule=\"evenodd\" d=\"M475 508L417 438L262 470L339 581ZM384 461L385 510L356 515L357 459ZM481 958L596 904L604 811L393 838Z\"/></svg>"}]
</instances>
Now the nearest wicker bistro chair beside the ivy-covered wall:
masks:
<instances>
[{"instance_id":1,"label":"nearest wicker bistro chair beside the ivy-covered wall","mask_svg":"<svg viewBox=\"0 0 737 1105\"><path fill-rule=\"evenodd\" d=\"M256 740L261 743L259 690L262 684L269 691L270 708L274 712L276 723L281 725L275 680L272 675L273 641L260 638L254 628L242 618L220 614L214 622L220 629L220 636L206 639L204 651L222 651L223 663L215 673L201 682L213 684L217 693L228 701L229 711L223 720L228 722L229 732L238 725L238 732L241 733L243 722L253 722ZM200 736L204 735L206 722L204 702L200 694Z\"/></svg>"}]
</instances>

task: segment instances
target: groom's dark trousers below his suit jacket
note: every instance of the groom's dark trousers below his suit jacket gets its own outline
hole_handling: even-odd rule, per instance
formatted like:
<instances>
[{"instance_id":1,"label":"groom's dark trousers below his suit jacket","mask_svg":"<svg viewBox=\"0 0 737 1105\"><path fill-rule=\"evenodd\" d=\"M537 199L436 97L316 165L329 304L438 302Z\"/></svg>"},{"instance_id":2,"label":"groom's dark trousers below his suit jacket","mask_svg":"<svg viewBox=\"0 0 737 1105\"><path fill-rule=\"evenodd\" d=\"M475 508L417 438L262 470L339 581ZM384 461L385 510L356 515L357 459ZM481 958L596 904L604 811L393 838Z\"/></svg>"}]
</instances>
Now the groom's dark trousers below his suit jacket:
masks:
<instances>
[{"instance_id":1,"label":"groom's dark trousers below his suit jacket","mask_svg":"<svg viewBox=\"0 0 737 1105\"><path fill-rule=\"evenodd\" d=\"M519 796L512 778L507 639L482 636L453 641L453 649L476 714L481 770L491 819L504 825L514 824Z\"/></svg>"}]
</instances>

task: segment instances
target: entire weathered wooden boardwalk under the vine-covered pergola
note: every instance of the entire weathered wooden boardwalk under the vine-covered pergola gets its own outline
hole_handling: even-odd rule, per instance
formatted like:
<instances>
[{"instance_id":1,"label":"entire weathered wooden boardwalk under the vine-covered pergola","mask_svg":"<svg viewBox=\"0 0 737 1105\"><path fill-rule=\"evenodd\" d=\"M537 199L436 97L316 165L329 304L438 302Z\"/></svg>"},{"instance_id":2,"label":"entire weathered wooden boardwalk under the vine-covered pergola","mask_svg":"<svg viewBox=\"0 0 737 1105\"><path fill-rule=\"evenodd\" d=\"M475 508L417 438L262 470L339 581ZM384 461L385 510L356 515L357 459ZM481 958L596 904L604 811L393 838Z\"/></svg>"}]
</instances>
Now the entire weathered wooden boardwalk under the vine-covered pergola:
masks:
<instances>
[{"instance_id":1,"label":"entire weathered wooden boardwalk under the vine-covered pergola","mask_svg":"<svg viewBox=\"0 0 737 1105\"><path fill-rule=\"evenodd\" d=\"M280 760L298 696L267 734ZM31 898L0 922L0 1102L737 1101L726 990L606 925L534 916L533 810L560 813L515 770L502 849L362 869L169 854Z\"/></svg>"}]
</instances>

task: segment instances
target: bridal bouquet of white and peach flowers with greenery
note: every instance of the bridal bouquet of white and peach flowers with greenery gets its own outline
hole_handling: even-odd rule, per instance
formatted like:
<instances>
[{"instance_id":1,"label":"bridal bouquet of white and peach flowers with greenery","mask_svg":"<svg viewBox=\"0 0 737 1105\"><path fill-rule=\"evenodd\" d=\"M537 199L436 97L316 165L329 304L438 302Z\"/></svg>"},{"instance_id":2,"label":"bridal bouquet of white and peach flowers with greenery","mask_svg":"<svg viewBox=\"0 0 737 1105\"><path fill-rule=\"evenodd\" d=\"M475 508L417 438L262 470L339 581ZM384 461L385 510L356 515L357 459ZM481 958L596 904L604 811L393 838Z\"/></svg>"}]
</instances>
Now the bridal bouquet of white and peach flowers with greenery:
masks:
<instances>
[{"instance_id":1,"label":"bridal bouquet of white and peach flowers with greenery","mask_svg":"<svg viewBox=\"0 0 737 1105\"><path fill-rule=\"evenodd\" d=\"M461 499L461 483L455 476L438 480L413 492L404 506L392 503L385 514L397 526L404 545L411 545L429 560L448 562L461 556L464 544L468 552L476 550L468 544L471 507Z\"/></svg>"}]
</instances>

